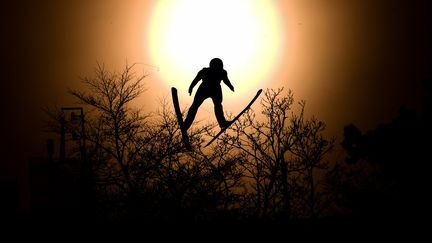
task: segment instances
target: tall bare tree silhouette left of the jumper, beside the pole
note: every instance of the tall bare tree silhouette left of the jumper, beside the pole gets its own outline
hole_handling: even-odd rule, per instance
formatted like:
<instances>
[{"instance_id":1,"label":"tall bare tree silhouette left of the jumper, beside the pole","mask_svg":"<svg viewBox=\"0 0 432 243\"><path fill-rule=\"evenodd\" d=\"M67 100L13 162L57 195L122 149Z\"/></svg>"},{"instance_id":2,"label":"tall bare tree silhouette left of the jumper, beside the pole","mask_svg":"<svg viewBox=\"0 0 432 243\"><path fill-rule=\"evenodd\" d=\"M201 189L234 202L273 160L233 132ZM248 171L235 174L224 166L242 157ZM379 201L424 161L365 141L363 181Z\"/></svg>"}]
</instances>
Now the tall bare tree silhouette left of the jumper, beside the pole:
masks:
<instances>
[{"instance_id":1,"label":"tall bare tree silhouette left of the jumper, beside the pole","mask_svg":"<svg viewBox=\"0 0 432 243\"><path fill-rule=\"evenodd\" d=\"M83 79L87 91L69 91L82 104L93 108L92 115L86 117L85 136L95 153L113 162L105 164L105 178L115 178L117 189L131 192L136 191L136 184L130 168L142 146L147 118L130 107L130 102L144 91L142 80L146 77L137 76L133 68L134 65L126 65L117 73L98 64L95 76ZM121 181L117 180L120 175Z\"/></svg>"}]
</instances>

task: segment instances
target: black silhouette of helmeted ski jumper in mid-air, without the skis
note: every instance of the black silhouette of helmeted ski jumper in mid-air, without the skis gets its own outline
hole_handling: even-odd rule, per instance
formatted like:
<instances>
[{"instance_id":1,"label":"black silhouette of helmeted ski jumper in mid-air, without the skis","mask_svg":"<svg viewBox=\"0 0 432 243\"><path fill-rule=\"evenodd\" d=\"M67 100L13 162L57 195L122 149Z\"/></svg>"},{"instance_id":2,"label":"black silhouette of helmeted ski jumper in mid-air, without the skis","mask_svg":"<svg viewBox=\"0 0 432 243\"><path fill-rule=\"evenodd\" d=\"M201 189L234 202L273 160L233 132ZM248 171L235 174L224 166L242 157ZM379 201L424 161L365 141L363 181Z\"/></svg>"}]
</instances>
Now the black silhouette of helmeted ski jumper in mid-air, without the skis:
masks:
<instances>
[{"instance_id":1,"label":"black silhouette of helmeted ski jumper in mid-air, without the skis","mask_svg":"<svg viewBox=\"0 0 432 243\"><path fill-rule=\"evenodd\" d=\"M189 108L188 114L184 121L184 128L188 130L195 119L198 108L207 98L211 98L214 104L214 112L219 126L223 129L230 123L225 119L222 107L222 88L221 81L223 81L233 92L234 87L228 79L228 74L223 69L223 62L219 58L213 58L210 61L210 67L203 68L198 72L196 77L192 80L189 86L189 95L192 95L192 90L198 81L202 80L198 91L195 94L194 101Z\"/></svg>"}]
</instances>

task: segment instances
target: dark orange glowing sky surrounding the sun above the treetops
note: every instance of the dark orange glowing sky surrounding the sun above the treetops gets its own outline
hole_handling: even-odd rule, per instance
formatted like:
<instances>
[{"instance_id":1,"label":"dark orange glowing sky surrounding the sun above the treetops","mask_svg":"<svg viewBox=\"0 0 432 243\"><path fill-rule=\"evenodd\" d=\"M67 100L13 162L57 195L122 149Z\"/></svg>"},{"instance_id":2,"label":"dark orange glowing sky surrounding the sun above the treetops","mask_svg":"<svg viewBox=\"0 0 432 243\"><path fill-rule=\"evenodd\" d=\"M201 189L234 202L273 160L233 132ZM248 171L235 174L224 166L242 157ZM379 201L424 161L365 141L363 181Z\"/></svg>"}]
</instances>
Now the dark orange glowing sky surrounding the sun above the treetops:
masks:
<instances>
[{"instance_id":1,"label":"dark orange glowing sky surrounding the sun above the treetops","mask_svg":"<svg viewBox=\"0 0 432 243\"><path fill-rule=\"evenodd\" d=\"M0 100L6 160L44 153L41 108L73 104L67 88L79 87L79 77L92 75L97 61L112 70L126 61L142 64L151 74L139 103L144 110L153 111L155 101L169 97L145 45L155 2L22 0L2 6ZM274 4L284 43L281 61L262 88L292 89L296 98L307 101L308 114L325 121L329 133L337 136L350 122L373 128L396 115L401 104L421 103L421 81L430 78L432 43L426 6L390 0ZM197 71L187 70L190 79L184 81L189 83ZM235 86L236 80L232 82ZM227 93L226 101L234 95ZM186 98L184 105L192 101ZM228 112L241 109L229 103L224 107ZM11 163L1 168L13 167Z\"/></svg>"}]
</instances>

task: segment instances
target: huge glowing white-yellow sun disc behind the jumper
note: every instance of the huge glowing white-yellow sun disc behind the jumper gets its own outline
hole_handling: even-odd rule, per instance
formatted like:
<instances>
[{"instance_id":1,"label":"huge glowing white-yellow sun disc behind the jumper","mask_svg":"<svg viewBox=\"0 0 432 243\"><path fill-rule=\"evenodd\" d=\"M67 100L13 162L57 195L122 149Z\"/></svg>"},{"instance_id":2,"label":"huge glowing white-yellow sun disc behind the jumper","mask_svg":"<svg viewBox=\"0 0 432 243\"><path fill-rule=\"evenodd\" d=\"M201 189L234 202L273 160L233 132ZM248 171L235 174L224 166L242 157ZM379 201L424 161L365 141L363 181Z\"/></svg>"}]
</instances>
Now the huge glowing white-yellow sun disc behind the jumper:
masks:
<instances>
[{"instance_id":1,"label":"huge glowing white-yellow sun disc behind the jumper","mask_svg":"<svg viewBox=\"0 0 432 243\"><path fill-rule=\"evenodd\" d=\"M282 36L267 0L158 1L149 31L152 62L169 86L186 91L196 73L218 57L236 95L265 88Z\"/></svg>"}]
</instances>

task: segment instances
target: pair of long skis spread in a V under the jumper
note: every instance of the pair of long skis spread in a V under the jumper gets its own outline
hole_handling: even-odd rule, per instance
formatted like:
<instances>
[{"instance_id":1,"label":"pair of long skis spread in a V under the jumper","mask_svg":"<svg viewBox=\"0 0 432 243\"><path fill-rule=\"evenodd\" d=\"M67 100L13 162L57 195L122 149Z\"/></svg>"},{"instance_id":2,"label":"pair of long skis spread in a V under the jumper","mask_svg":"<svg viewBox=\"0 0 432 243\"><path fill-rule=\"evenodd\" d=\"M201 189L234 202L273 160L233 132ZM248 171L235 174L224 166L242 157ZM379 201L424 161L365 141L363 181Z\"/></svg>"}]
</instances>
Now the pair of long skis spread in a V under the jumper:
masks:
<instances>
[{"instance_id":1,"label":"pair of long skis spread in a V under the jumper","mask_svg":"<svg viewBox=\"0 0 432 243\"><path fill-rule=\"evenodd\" d=\"M217 134L216 136L214 136L204 147L209 146L213 141L215 141L223 132L226 131L226 129L228 127L230 127L234 122L236 122L241 115L243 115L243 113L245 113L251 106L252 104L255 102L255 100L258 98L258 96L261 94L262 89L258 90L258 92L256 93L256 95L253 97L253 99L249 102L249 104L236 116L234 117L234 119L232 119L228 126L222 128ZM173 104L174 104L174 111L177 115L177 121L179 123L180 126L180 131L182 133L182 140L183 140L183 144L185 145L186 149L189 151L192 151L192 147L190 145L190 141L189 141L189 137L187 135L187 131L184 127L184 122L183 122L183 116L180 110L180 104L178 101L178 94L177 94L177 89L172 87L171 88L171 94L172 94L172 99L173 99Z\"/></svg>"}]
</instances>

